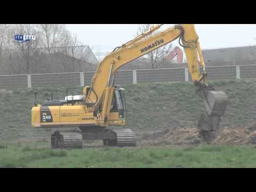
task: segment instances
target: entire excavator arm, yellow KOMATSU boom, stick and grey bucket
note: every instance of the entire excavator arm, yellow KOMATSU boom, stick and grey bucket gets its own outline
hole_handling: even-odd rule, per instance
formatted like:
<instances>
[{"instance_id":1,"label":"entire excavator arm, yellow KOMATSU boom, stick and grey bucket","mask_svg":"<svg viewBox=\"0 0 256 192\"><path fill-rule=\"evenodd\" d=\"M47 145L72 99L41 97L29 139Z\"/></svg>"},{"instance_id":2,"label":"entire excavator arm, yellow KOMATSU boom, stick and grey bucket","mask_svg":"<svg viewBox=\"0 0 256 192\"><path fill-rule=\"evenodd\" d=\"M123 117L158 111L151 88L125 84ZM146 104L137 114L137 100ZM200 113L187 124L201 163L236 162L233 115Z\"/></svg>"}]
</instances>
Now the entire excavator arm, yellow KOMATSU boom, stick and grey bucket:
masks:
<instances>
[{"instance_id":1,"label":"entire excavator arm, yellow KOMATSU boom, stick and grey bucket","mask_svg":"<svg viewBox=\"0 0 256 192\"><path fill-rule=\"evenodd\" d=\"M153 34L161 26L154 26L145 34L141 34L132 41L116 47L113 52L101 61L92 78L90 92L86 93L86 102L92 102L94 115L101 116L107 122L115 89L114 79L117 70L126 63L173 42L175 39L179 39L180 45L185 50L188 70L195 84L196 93L204 99L205 103L206 114L199 121L198 126L204 131L217 129L220 116L226 110L227 95L224 92L215 91L212 86L208 85L205 63L195 26L192 24L180 24ZM202 73L199 70L199 64L202 67Z\"/></svg>"}]
</instances>

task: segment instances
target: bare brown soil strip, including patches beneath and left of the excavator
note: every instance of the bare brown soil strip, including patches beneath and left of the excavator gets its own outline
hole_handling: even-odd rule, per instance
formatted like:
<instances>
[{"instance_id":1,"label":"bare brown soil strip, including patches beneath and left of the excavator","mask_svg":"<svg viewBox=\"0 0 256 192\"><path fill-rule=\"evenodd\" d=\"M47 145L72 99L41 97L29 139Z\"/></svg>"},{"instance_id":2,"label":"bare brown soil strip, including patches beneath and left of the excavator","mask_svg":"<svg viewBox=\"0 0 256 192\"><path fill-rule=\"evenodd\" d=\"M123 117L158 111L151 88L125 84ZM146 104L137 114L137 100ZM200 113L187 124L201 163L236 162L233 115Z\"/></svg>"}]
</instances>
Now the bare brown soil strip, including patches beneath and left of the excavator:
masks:
<instances>
[{"instance_id":1,"label":"bare brown soil strip, including patches beneath and left of the excavator","mask_svg":"<svg viewBox=\"0 0 256 192\"><path fill-rule=\"evenodd\" d=\"M137 146L191 146L207 144L198 137L197 128L172 128L163 131L137 132ZM46 137L44 140L47 140ZM36 140L19 139L18 142L27 143ZM42 138L41 138L42 140ZM222 127L212 145L256 145L256 121L251 120L244 126ZM101 147L102 141L85 141L85 147Z\"/></svg>"}]
</instances>

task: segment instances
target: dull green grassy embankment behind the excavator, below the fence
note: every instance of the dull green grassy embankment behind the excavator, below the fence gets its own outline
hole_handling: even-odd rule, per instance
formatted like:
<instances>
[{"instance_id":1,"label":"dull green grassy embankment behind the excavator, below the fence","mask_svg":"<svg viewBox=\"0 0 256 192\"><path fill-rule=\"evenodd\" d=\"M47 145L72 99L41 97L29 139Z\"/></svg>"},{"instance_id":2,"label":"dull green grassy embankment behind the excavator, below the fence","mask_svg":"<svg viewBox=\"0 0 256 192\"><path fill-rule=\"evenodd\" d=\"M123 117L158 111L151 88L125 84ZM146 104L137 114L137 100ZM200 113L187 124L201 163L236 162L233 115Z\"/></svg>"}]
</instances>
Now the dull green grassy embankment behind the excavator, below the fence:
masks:
<instances>
[{"instance_id":1,"label":"dull green grassy embankment behind the excavator, below the fence","mask_svg":"<svg viewBox=\"0 0 256 192\"><path fill-rule=\"evenodd\" d=\"M256 119L256 79L216 81L215 89L225 91L230 98L221 126L243 125ZM203 113L203 102L188 82L125 85L127 128L134 131L157 131L172 127L196 127ZM69 94L81 94L82 87L41 87L16 89L0 94L0 139L7 141L49 138L49 129L32 129L30 110L35 102L46 98L63 99ZM4 130L7 130L6 132Z\"/></svg>"}]
</instances>

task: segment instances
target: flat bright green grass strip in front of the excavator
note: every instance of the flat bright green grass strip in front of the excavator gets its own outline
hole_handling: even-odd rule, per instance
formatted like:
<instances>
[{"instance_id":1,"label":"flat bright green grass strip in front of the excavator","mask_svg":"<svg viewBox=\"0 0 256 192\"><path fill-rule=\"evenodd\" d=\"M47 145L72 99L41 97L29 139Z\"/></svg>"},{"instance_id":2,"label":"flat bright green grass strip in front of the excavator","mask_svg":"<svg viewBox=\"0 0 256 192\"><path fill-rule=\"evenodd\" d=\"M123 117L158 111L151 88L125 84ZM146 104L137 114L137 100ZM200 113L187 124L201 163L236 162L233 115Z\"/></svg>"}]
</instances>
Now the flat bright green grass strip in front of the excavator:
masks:
<instances>
[{"instance_id":1,"label":"flat bright green grass strip in front of the excavator","mask_svg":"<svg viewBox=\"0 0 256 192\"><path fill-rule=\"evenodd\" d=\"M256 167L250 146L189 148L84 148L60 150L9 146L0 149L0 167Z\"/></svg>"}]
</instances>

